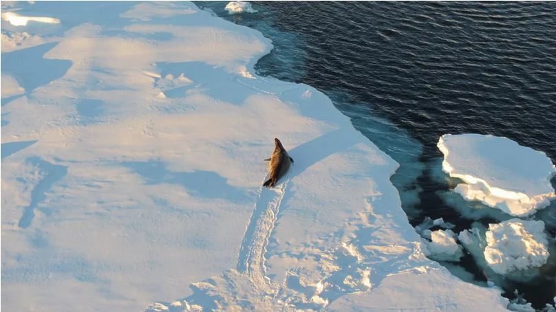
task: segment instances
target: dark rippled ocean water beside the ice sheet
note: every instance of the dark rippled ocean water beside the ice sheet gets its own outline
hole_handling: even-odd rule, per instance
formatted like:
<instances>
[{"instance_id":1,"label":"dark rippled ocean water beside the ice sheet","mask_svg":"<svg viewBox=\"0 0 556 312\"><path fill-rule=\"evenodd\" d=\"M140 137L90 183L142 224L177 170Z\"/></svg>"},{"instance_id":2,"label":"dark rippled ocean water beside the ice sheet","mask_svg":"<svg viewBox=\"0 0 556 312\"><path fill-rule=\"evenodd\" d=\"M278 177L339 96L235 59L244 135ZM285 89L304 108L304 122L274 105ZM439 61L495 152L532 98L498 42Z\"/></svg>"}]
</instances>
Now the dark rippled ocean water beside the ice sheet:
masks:
<instances>
[{"instance_id":1,"label":"dark rippled ocean water beside the ice sheet","mask_svg":"<svg viewBox=\"0 0 556 312\"><path fill-rule=\"evenodd\" d=\"M257 74L323 91L400 163L392 182L413 225L442 217L459 232L511 219L451 192L458 181L441 171L442 134L509 137L556 163L556 3L253 2L257 13L235 15L226 2L196 4L271 38ZM556 236L556 203L533 219ZM487 280L469 255L443 265ZM556 296L556 259L533 280L499 284L540 309Z\"/></svg>"}]
</instances>

